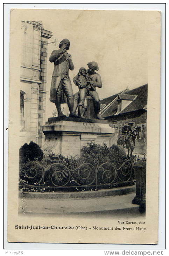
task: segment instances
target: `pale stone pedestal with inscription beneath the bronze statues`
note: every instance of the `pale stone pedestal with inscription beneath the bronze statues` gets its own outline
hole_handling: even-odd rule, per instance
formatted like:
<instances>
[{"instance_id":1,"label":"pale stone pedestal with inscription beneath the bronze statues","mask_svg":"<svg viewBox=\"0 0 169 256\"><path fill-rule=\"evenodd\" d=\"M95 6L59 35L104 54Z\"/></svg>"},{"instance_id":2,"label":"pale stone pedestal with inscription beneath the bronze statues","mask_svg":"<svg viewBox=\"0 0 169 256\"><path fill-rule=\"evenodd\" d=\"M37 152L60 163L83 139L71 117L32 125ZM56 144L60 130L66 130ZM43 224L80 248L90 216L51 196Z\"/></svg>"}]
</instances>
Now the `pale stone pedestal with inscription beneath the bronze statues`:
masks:
<instances>
[{"instance_id":1,"label":"pale stone pedestal with inscription beneath the bronze statues","mask_svg":"<svg viewBox=\"0 0 169 256\"><path fill-rule=\"evenodd\" d=\"M106 143L108 147L114 143L114 128L106 120L50 117L42 130L45 134L44 153L79 156L87 142Z\"/></svg>"}]
</instances>

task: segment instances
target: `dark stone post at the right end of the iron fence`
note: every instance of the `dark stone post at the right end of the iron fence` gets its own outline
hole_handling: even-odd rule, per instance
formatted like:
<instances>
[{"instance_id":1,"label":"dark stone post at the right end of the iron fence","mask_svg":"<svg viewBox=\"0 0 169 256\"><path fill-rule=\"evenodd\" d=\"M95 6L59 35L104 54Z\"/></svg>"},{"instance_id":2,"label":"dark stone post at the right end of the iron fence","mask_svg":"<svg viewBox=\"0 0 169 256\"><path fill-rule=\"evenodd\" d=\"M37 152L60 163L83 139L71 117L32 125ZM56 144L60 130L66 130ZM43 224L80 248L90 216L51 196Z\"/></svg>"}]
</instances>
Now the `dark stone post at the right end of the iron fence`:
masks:
<instances>
[{"instance_id":1,"label":"dark stone post at the right end of the iron fence","mask_svg":"<svg viewBox=\"0 0 169 256\"><path fill-rule=\"evenodd\" d=\"M134 165L134 175L136 178L136 195L132 201L138 204L141 210L146 208L146 160L139 160Z\"/></svg>"}]
</instances>

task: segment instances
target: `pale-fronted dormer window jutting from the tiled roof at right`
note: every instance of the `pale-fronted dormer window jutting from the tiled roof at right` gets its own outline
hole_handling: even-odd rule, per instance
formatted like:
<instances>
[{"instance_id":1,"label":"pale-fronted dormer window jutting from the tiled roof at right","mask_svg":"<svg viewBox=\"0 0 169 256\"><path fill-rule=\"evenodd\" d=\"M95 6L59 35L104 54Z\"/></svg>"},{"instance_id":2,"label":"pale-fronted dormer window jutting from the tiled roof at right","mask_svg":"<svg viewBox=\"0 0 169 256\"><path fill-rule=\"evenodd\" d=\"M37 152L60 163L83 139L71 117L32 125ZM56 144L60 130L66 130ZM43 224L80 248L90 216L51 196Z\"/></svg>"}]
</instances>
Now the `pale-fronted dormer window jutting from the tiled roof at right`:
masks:
<instances>
[{"instance_id":1,"label":"pale-fronted dormer window jutting from the tiled roof at right","mask_svg":"<svg viewBox=\"0 0 169 256\"><path fill-rule=\"evenodd\" d=\"M132 94L121 94L117 95L116 101L118 102L117 114L119 114L123 109L125 109L133 100L135 100L137 95Z\"/></svg>"}]
</instances>

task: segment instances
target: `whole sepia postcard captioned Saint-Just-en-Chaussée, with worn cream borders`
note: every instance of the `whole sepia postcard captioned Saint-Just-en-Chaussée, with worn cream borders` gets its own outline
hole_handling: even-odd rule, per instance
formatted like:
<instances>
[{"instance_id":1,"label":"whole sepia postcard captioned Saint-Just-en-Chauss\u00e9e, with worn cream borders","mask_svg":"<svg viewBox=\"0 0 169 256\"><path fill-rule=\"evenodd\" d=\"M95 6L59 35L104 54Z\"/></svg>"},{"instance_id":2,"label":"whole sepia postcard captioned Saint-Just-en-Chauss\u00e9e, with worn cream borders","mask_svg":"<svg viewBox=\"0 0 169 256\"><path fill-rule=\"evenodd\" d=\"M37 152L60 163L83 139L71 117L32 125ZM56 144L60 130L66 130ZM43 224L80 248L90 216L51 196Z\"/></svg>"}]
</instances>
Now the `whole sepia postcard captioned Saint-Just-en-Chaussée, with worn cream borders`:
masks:
<instances>
[{"instance_id":1,"label":"whole sepia postcard captioned Saint-Just-en-Chauss\u00e9e, with worn cream borders","mask_svg":"<svg viewBox=\"0 0 169 256\"><path fill-rule=\"evenodd\" d=\"M161 13L10 19L8 242L158 244Z\"/></svg>"}]
</instances>

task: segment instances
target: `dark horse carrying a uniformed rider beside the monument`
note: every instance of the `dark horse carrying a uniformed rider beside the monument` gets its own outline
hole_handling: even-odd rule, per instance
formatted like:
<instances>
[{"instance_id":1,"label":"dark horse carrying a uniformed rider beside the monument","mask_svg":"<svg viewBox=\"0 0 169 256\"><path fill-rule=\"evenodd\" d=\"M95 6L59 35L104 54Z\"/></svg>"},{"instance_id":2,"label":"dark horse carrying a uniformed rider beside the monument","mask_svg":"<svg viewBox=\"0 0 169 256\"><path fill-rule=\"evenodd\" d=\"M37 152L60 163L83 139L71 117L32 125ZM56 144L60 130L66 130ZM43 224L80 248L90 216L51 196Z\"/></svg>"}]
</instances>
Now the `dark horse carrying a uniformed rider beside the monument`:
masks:
<instances>
[{"instance_id":1,"label":"dark horse carrying a uniformed rider beside the monument","mask_svg":"<svg viewBox=\"0 0 169 256\"><path fill-rule=\"evenodd\" d=\"M141 129L140 127L135 127L132 133L128 133L127 139L124 141L123 138L119 138L117 141L118 145L123 145L124 148L127 148L127 157L132 157L132 152L135 147L135 139L140 138ZM129 154L130 153L130 154Z\"/></svg>"}]
</instances>

